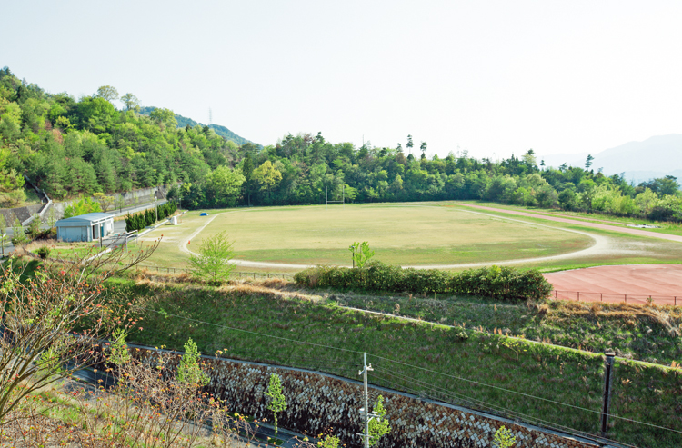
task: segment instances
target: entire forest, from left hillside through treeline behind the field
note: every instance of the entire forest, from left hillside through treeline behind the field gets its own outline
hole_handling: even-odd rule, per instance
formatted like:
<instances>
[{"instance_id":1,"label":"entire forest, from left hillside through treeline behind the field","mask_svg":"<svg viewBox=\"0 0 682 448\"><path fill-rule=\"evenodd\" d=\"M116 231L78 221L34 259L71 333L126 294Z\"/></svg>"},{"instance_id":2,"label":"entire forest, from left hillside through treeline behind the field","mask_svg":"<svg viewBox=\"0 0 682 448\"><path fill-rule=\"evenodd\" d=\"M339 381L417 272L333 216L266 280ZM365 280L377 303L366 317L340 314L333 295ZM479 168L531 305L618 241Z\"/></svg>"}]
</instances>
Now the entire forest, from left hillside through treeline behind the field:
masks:
<instances>
[{"instance_id":1,"label":"entire forest, from left hillside through treeline behind the field","mask_svg":"<svg viewBox=\"0 0 682 448\"><path fill-rule=\"evenodd\" d=\"M143 111L135 95L121 96L120 110L117 99L103 86L76 101L0 71L0 200L21 202L26 174L56 199L176 184L169 196L186 208L324 204L328 193L347 202L486 199L682 220L676 178L628 184L595 173L589 157L584 167L558 168L538 166L532 150L498 162L466 152L427 158L426 143L416 149L410 135L405 150L333 144L321 134L238 145L205 125L178 126L170 110Z\"/></svg>"}]
</instances>

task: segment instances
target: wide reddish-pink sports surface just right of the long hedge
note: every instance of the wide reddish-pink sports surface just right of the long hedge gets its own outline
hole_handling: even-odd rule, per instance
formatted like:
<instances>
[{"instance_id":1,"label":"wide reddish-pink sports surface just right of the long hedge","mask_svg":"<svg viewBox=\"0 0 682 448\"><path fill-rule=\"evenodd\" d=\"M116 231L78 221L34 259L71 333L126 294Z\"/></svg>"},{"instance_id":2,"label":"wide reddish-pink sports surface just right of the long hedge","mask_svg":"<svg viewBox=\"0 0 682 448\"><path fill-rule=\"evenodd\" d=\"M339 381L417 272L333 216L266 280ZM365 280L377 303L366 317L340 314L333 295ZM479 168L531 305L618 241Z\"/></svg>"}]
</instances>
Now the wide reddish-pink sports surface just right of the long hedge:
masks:
<instances>
[{"instance_id":1,"label":"wide reddish-pink sports surface just right of the long hedge","mask_svg":"<svg viewBox=\"0 0 682 448\"><path fill-rule=\"evenodd\" d=\"M597 266L544 275L557 299L646 304L651 296L656 304L682 305L682 264Z\"/></svg>"}]
</instances>

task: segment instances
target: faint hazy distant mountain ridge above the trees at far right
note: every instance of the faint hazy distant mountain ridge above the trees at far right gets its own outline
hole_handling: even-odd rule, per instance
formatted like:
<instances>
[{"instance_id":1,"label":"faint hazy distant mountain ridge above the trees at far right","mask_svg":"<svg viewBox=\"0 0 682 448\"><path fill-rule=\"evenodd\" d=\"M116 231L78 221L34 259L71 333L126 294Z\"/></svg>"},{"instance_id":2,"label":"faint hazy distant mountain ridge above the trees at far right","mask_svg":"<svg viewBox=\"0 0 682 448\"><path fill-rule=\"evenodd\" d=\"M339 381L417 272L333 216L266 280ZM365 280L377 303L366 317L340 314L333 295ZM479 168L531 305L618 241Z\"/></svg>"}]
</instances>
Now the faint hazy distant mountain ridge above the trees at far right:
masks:
<instances>
[{"instance_id":1,"label":"faint hazy distant mountain ridge above the trees at far right","mask_svg":"<svg viewBox=\"0 0 682 448\"><path fill-rule=\"evenodd\" d=\"M538 160L557 168L561 164L584 166L588 153L538 155ZM642 142L629 142L599 153L592 168L604 169L604 174L625 173L636 184L657 177L674 175L682 180L682 134L656 135Z\"/></svg>"}]
</instances>

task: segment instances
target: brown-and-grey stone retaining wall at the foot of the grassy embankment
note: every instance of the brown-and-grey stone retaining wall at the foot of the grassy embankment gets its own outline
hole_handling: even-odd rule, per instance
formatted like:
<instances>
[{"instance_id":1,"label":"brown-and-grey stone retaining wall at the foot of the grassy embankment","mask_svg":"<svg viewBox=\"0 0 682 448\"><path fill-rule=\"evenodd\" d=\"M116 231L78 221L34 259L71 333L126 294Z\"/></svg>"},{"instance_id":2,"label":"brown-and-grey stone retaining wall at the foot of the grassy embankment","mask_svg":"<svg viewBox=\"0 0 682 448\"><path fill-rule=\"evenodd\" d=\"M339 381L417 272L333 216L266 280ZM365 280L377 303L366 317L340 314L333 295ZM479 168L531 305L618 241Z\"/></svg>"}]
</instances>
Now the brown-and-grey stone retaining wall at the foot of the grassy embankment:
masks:
<instances>
[{"instance_id":1,"label":"brown-and-grey stone retaining wall at the foot of the grassy embankment","mask_svg":"<svg viewBox=\"0 0 682 448\"><path fill-rule=\"evenodd\" d=\"M142 358L154 351L133 351ZM271 373L282 378L288 407L278 414L281 426L316 436L331 432L346 446L361 446L359 409L362 383L334 375L301 369L274 367L223 358L205 357L211 375L208 392L229 403L233 411L271 421L264 392ZM391 432L379 447L474 448L492 447L497 429L505 426L517 439L518 448L595 448L596 444L567 434L554 433L522 423L514 423L466 408L422 400L414 395L370 387L370 403L382 394Z\"/></svg>"}]
</instances>

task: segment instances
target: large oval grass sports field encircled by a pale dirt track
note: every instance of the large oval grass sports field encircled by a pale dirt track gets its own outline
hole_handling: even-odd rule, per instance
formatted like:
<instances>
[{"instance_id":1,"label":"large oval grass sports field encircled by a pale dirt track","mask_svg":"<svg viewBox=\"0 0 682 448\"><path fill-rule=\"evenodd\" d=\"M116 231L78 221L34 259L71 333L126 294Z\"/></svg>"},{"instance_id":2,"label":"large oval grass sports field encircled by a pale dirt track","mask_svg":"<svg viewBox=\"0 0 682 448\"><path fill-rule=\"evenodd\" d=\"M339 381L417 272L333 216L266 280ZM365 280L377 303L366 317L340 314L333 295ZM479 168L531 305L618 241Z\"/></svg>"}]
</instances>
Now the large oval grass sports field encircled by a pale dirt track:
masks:
<instances>
[{"instance_id":1,"label":"large oval grass sports field encircled by a pale dirt track","mask_svg":"<svg viewBox=\"0 0 682 448\"><path fill-rule=\"evenodd\" d=\"M574 253L594 244L558 225L482 214L453 203L346 204L190 212L182 225L163 225L151 264L183 267L201 240L226 230L236 258L285 264L349 264L348 245L367 241L387 264L494 263ZM199 231L198 234L196 232Z\"/></svg>"}]
</instances>

